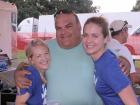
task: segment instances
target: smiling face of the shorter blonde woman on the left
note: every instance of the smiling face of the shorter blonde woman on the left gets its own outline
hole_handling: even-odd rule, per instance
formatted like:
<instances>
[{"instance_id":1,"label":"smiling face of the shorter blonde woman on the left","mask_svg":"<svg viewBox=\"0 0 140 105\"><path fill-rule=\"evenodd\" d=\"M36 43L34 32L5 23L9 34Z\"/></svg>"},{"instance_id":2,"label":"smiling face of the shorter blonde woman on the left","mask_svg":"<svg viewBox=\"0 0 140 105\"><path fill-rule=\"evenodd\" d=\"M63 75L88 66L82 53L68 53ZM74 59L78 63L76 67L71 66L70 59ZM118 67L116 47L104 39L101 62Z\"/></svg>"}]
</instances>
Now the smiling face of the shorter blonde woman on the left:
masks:
<instances>
[{"instance_id":1,"label":"smiling face of the shorter blonde woman on the left","mask_svg":"<svg viewBox=\"0 0 140 105\"><path fill-rule=\"evenodd\" d=\"M32 57L29 58L29 61L38 70L41 70L42 72L47 70L50 63L50 54L48 48L44 46L33 47Z\"/></svg>"}]
</instances>

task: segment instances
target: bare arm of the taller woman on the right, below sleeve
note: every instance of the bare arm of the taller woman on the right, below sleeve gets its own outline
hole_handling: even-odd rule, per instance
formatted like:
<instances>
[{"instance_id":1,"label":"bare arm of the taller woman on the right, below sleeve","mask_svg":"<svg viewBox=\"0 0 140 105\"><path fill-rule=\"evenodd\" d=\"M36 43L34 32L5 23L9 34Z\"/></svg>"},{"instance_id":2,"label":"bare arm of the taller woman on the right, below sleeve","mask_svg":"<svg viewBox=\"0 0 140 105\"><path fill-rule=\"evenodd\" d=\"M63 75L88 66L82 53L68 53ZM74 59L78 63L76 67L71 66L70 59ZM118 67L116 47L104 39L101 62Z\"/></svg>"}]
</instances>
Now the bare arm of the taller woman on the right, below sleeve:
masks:
<instances>
[{"instance_id":1,"label":"bare arm of the taller woman on the right, below sleeve","mask_svg":"<svg viewBox=\"0 0 140 105\"><path fill-rule=\"evenodd\" d=\"M131 85L121 90L119 96L125 105L139 105Z\"/></svg>"}]
</instances>

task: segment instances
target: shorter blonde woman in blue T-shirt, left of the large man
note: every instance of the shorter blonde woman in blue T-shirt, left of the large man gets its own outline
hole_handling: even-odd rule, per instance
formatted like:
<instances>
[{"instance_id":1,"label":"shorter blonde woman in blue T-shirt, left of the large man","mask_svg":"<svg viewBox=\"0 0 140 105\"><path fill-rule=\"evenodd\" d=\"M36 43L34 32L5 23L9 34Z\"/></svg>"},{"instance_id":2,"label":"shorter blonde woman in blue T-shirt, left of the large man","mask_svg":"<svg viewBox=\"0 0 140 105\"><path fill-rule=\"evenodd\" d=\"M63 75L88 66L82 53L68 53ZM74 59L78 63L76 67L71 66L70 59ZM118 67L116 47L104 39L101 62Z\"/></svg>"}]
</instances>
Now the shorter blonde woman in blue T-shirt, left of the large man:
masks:
<instances>
[{"instance_id":1,"label":"shorter blonde woman in blue T-shirt, left of the large man","mask_svg":"<svg viewBox=\"0 0 140 105\"><path fill-rule=\"evenodd\" d=\"M30 66L24 69L31 72L26 76L32 81L32 85L19 90L16 105L45 105L47 93L45 71L50 62L49 49L42 40L32 40L27 46L26 56Z\"/></svg>"}]
</instances>

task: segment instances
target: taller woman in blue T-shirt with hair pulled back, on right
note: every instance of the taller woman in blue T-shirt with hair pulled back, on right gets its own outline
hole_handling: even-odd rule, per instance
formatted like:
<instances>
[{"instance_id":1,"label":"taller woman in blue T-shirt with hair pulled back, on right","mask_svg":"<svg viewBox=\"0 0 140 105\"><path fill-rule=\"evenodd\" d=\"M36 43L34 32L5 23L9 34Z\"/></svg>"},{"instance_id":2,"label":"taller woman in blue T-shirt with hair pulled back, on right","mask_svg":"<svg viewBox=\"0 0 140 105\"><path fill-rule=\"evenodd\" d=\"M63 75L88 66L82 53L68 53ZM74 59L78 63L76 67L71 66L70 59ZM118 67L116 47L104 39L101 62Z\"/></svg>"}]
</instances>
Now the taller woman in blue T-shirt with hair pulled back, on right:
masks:
<instances>
[{"instance_id":1,"label":"taller woman in blue T-shirt with hair pulled back, on right","mask_svg":"<svg viewBox=\"0 0 140 105\"><path fill-rule=\"evenodd\" d=\"M102 17L89 18L83 28L83 46L95 63L96 91L105 105L138 105L129 79L108 49L108 23Z\"/></svg>"}]
</instances>

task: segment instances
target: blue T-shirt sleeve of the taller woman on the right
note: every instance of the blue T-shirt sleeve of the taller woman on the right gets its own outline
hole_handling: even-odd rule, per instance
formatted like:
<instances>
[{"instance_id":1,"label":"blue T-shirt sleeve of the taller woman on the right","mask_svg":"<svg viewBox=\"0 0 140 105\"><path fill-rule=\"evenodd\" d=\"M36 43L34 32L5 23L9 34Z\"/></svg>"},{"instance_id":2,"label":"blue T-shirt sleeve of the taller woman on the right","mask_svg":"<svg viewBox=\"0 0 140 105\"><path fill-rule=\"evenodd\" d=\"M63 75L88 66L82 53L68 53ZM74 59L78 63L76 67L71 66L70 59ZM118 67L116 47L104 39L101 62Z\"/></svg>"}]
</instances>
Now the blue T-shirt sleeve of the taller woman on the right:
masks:
<instances>
[{"instance_id":1,"label":"blue T-shirt sleeve of the taller woman on the right","mask_svg":"<svg viewBox=\"0 0 140 105\"><path fill-rule=\"evenodd\" d=\"M105 67L104 72L101 74L101 78L116 92L126 88L130 84L130 80L123 74L119 67L117 59L111 60L111 62Z\"/></svg>"}]
</instances>

